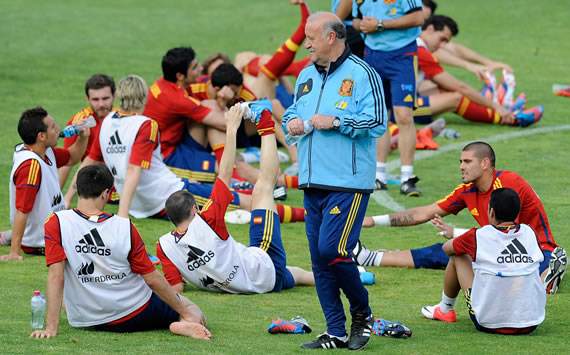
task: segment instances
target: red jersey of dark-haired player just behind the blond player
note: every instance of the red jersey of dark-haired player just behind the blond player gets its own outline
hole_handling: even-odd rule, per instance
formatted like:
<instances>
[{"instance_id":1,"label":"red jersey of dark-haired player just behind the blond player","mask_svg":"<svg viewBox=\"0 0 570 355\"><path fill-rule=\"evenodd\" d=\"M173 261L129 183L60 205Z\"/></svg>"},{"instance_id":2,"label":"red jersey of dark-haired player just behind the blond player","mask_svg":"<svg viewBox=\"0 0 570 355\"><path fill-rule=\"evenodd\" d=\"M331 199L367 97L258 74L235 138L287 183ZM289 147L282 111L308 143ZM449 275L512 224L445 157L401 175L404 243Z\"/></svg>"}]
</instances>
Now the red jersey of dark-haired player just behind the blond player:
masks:
<instances>
[{"instance_id":1,"label":"red jersey of dark-haired player just behind the blond player","mask_svg":"<svg viewBox=\"0 0 570 355\"><path fill-rule=\"evenodd\" d=\"M210 111L184 88L160 78L148 89L143 115L158 123L162 156L167 157L182 141L187 121L202 122Z\"/></svg>"}]
</instances>

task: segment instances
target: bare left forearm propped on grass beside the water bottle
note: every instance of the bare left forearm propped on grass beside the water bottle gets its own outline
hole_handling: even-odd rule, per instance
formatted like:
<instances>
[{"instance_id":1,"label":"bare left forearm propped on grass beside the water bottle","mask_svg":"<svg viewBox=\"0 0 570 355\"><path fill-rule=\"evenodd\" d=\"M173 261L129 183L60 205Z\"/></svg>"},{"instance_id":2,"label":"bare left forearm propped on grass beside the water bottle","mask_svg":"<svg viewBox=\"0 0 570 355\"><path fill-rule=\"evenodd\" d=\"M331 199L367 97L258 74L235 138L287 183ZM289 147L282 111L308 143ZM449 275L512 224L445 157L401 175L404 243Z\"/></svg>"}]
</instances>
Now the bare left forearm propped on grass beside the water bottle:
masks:
<instances>
[{"instance_id":1,"label":"bare left forearm propped on grass beside the water bottle","mask_svg":"<svg viewBox=\"0 0 570 355\"><path fill-rule=\"evenodd\" d=\"M51 264L48 269L46 329L36 330L32 338L51 338L59 329L59 314L63 301L65 261Z\"/></svg>"}]
</instances>

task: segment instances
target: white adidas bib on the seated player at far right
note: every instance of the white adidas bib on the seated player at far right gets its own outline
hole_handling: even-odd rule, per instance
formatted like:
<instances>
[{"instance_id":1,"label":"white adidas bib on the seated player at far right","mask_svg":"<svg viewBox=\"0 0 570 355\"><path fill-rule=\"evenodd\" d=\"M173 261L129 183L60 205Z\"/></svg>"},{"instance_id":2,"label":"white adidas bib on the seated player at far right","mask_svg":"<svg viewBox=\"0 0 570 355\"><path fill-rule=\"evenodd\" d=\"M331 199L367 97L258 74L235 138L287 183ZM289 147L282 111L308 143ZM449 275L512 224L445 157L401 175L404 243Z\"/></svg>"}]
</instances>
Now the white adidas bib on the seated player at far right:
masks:
<instances>
[{"instance_id":1,"label":"white adidas bib on the seated player at far right","mask_svg":"<svg viewBox=\"0 0 570 355\"><path fill-rule=\"evenodd\" d=\"M534 231L526 224L508 233L485 226L476 240L471 305L479 324L495 329L542 323L546 292L538 269L544 256Z\"/></svg>"}]
</instances>

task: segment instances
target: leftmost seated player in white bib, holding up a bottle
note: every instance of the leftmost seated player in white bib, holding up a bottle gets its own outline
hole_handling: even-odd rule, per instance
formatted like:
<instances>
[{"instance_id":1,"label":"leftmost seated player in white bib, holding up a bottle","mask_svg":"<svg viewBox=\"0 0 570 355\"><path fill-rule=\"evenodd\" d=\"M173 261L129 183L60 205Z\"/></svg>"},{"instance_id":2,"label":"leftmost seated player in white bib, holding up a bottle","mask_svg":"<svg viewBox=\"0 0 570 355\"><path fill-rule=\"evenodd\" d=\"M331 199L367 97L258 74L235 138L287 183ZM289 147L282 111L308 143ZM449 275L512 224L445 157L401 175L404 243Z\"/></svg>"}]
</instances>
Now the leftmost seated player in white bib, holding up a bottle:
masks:
<instances>
[{"instance_id":1,"label":"leftmost seated player in white bib, holding up a bottle","mask_svg":"<svg viewBox=\"0 0 570 355\"><path fill-rule=\"evenodd\" d=\"M10 253L0 260L21 260L22 250L43 254L41 221L63 207L57 167L73 165L85 152L89 130L69 149L56 148L59 126L41 107L26 110L18 122L23 144L16 146L10 180ZM41 160L40 160L41 159Z\"/></svg>"}]
</instances>

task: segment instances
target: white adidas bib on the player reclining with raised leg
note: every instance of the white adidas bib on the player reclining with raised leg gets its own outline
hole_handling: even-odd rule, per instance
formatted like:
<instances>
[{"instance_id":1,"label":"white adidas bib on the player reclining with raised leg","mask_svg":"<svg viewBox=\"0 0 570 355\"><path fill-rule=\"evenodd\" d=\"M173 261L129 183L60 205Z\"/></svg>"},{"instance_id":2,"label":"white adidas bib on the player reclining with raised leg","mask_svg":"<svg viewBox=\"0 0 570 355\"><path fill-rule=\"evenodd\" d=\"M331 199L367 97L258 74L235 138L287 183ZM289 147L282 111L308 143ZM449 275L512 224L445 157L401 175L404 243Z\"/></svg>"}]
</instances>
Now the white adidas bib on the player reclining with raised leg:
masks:
<instances>
[{"instance_id":1,"label":"white adidas bib on the player reclining with raised leg","mask_svg":"<svg viewBox=\"0 0 570 355\"><path fill-rule=\"evenodd\" d=\"M159 243L182 277L198 288L266 293L275 286L275 266L267 253L246 247L232 236L221 239L200 215L194 217L182 237L168 233Z\"/></svg>"}]
</instances>

